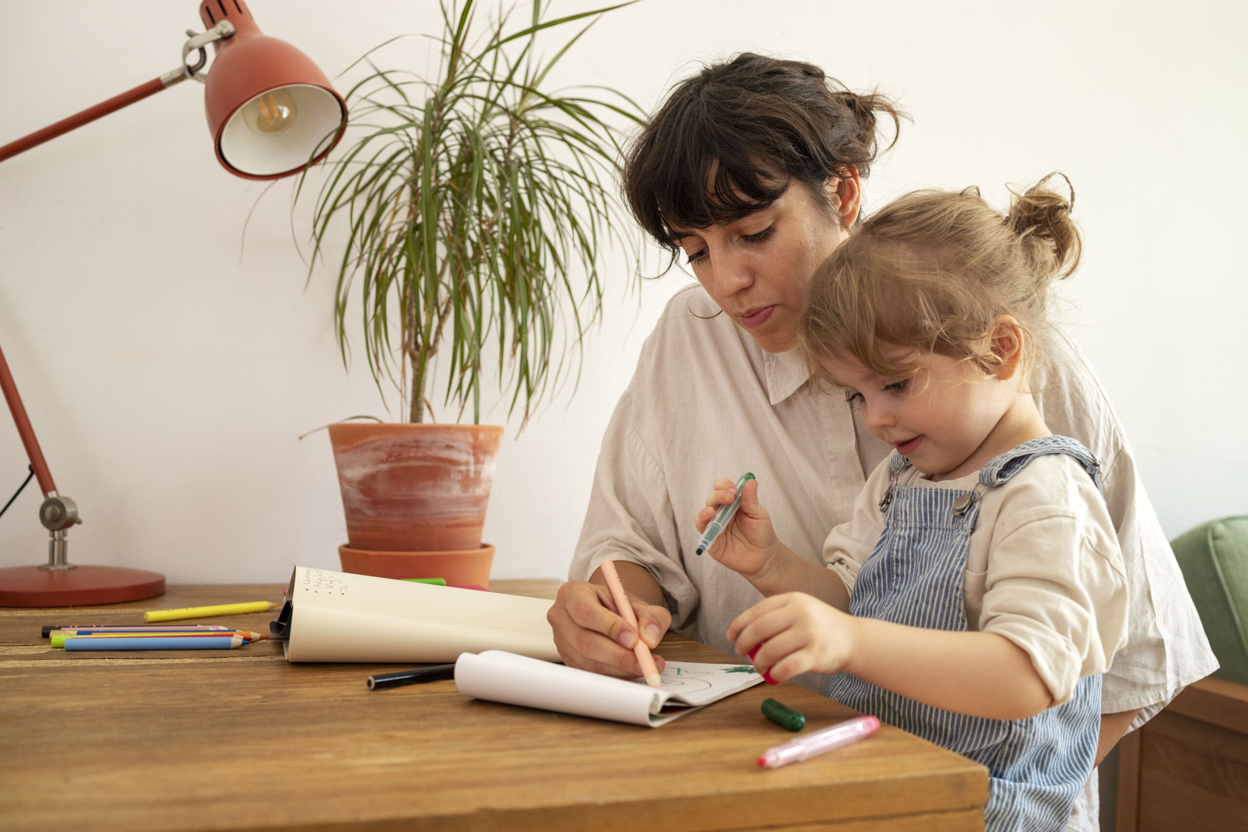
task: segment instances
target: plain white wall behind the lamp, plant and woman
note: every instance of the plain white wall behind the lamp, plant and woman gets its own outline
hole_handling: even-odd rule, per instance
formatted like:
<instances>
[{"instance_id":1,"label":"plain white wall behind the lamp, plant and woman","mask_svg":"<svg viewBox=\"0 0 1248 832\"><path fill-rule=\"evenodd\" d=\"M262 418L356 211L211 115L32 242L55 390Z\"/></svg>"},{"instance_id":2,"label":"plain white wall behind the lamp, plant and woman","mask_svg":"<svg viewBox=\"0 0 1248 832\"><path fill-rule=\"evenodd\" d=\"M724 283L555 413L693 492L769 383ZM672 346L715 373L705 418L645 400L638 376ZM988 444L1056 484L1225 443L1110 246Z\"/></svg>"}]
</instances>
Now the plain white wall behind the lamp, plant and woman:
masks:
<instances>
[{"instance_id":1,"label":"plain white wall behind the lamp, plant and woman","mask_svg":"<svg viewBox=\"0 0 1248 832\"><path fill-rule=\"evenodd\" d=\"M557 0L554 14L593 5ZM252 6L331 76L393 35L438 26L432 0ZM698 61L749 49L879 85L915 122L869 182L875 206L919 186L978 183L1002 200L1006 182L1063 170L1087 235L1071 323L1174 535L1248 510L1244 9L649 0L592 30L557 81L613 85L650 106ZM0 143L175 67L196 10L0 0ZM424 51L382 57L401 61L422 70ZM296 437L384 413L363 363L342 369L331 276L303 291L290 183L263 190L218 167L193 82L0 165L0 346L57 485L86 519L72 560L171 581L337 565L346 533L328 439ZM497 578L565 573L612 407L686 279L646 284L638 304L623 262L610 277L580 392L519 438L508 430L485 528ZM26 468L7 424L0 413L0 503ZM0 518L0 565L46 558L37 504L31 484Z\"/></svg>"}]
</instances>

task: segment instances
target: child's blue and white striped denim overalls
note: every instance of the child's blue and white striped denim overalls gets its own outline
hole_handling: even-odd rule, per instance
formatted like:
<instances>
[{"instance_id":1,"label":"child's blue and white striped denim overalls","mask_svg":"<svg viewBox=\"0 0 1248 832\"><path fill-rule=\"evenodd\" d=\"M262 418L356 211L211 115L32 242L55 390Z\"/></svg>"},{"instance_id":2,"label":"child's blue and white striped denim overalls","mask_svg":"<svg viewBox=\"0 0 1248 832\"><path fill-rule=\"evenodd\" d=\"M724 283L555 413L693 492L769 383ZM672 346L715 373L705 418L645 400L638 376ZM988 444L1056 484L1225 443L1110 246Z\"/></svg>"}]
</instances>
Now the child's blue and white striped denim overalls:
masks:
<instances>
[{"instance_id":1,"label":"child's blue and white striped denim overalls","mask_svg":"<svg viewBox=\"0 0 1248 832\"><path fill-rule=\"evenodd\" d=\"M967 630L962 596L967 544L980 496L1045 454L1070 454L1101 489L1092 453L1067 437L1042 437L990 462L971 491L899 486L910 467L892 459L881 501L884 533L862 564L850 614L931 630ZM988 720L899 696L850 674L831 677L827 695L987 767L985 825L1005 830L1065 830L1075 797L1092 772L1101 728L1101 676L1085 676L1073 699L1026 720Z\"/></svg>"}]
</instances>

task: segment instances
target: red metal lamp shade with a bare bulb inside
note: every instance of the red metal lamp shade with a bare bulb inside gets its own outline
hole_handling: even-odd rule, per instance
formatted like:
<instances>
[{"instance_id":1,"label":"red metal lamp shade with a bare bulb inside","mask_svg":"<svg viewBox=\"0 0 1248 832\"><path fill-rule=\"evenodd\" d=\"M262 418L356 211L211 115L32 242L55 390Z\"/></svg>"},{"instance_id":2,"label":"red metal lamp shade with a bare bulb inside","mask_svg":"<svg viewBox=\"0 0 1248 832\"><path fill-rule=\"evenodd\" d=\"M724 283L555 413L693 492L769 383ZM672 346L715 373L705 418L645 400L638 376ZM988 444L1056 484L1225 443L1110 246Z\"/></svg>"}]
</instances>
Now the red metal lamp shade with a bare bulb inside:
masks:
<instances>
[{"instance_id":1,"label":"red metal lamp shade with a bare bulb inside","mask_svg":"<svg viewBox=\"0 0 1248 832\"><path fill-rule=\"evenodd\" d=\"M231 173L275 180L317 162L347 127L347 104L307 55L260 31L243 0L203 0L208 29L237 34L213 42L203 94L217 158Z\"/></svg>"}]
</instances>

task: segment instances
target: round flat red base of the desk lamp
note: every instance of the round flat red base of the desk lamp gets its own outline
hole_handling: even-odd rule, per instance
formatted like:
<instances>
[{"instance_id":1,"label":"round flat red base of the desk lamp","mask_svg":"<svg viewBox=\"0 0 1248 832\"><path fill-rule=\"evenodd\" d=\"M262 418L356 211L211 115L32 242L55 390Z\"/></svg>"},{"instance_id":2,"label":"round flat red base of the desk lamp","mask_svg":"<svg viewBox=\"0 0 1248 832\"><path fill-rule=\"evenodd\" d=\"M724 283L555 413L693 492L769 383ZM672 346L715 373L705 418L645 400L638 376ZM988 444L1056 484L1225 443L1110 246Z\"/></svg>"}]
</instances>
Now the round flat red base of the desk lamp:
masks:
<instances>
[{"instance_id":1,"label":"round flat red base of the desk lamp","mask_svg":"<svg viewBox=\"0 0 1248 832\"><path fill-rule=\"evenodd\" d=\"M90 606L140 601L165 593L165 576L142 569L75 566L0 569L0 606Z\"/></svg>"}]
</instances>

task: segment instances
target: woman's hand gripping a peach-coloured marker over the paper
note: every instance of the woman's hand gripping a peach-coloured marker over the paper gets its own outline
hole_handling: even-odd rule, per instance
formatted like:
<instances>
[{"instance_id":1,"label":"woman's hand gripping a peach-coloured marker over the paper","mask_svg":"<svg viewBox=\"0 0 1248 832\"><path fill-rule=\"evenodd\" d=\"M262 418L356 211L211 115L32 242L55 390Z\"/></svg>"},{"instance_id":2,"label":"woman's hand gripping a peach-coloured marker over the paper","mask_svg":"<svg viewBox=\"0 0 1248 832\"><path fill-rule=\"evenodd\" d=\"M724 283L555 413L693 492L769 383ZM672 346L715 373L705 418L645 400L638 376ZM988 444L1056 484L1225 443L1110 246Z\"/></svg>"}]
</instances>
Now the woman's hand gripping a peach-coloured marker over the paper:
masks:
<instances>
[{"instance_id":1,"label":"woman's hand gripping a peach-coloured marker over the paper","mask_svg":"<svg viewBox=\"0 0 1248 832\"><path fill-rule=\"evenodd\" d=\"M664 606L629 601L641 629L641 639L653 650L671 626L671 612ZM568 581L559 588L554 604L547 611L547 621L554 631L555 650L569 667L622 679L644 675L633 651L638 632L615 612L615 601L605 586ZM655 655L654 664L661 674L663 656Z\"/></svg>"}]
</instances>

